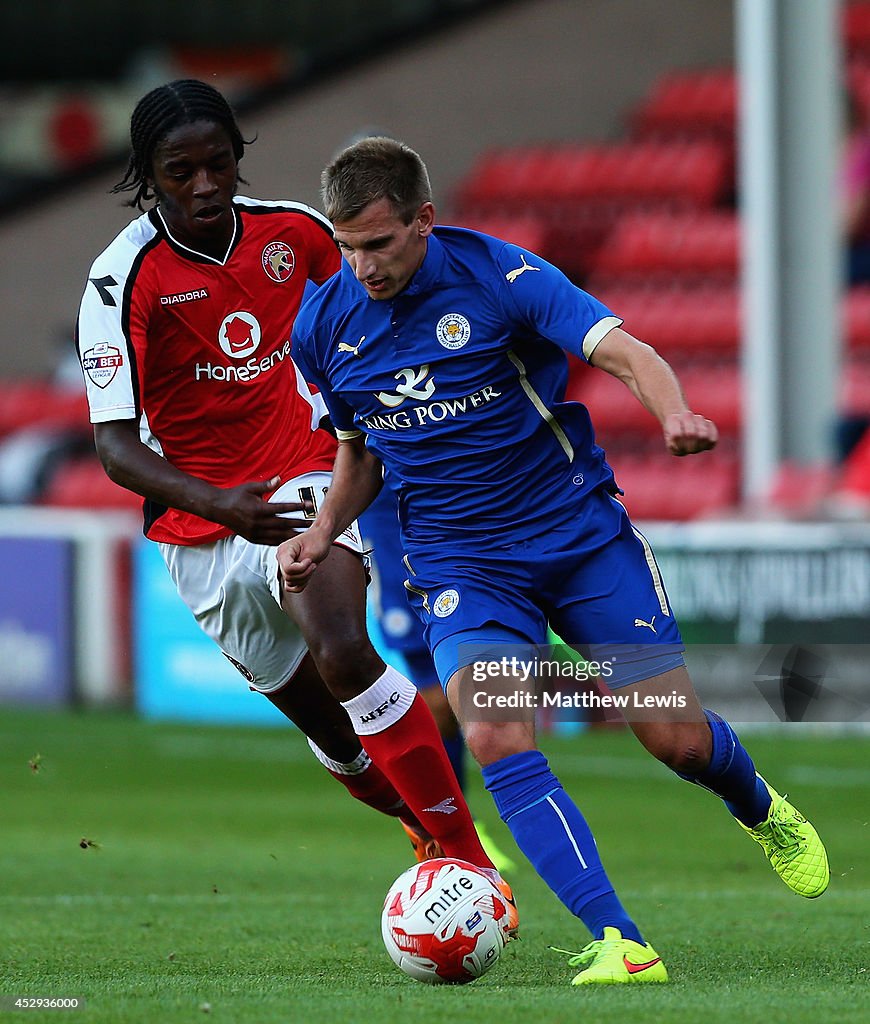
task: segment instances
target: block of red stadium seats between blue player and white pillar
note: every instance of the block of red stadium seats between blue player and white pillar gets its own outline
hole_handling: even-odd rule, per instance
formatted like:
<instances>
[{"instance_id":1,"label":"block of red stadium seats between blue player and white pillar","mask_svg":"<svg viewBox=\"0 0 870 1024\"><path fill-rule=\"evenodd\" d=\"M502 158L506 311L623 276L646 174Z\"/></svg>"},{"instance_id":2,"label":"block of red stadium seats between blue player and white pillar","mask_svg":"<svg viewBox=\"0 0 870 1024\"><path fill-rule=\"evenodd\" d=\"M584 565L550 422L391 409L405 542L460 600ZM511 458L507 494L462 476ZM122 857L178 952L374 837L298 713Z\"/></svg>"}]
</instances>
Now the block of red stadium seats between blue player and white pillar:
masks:
<instances>
[{"instance_id":1,"label":"block of red stadium seats between blue player and white pillar","mask_svg":"<svg viewBox=\"0 0 870 1024\"><path fill-rule=\"evenodd\" d=\"M621 384L571 360L569 396L590 409L640 518L697 518L739 497L736 95L730 70L666 75L629 115L625 140L491 150L453 197L461 223L488 220L508 238L533 224L535 251L661 351L717 422L725 455L675 462L650 445L650 416Z\"/></svg>"}]
</instances>

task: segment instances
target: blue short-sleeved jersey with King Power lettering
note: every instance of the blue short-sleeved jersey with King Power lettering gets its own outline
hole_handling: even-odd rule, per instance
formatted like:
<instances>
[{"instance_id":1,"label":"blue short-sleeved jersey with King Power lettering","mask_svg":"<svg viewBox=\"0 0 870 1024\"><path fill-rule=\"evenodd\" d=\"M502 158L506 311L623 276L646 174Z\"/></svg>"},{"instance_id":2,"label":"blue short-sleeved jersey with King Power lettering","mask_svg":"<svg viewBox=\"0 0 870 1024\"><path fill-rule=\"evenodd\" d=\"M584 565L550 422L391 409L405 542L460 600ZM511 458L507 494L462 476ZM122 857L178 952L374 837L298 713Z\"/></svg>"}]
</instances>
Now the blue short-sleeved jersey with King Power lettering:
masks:
<instances>
[{"instance_id":1,"label":"blue short-sleeved jersey with King Power lettering","mask_svg":"<svg viewBox=\"0 0 870 1024\"><path fill-rule=\"evenodd\" d=\"M540 257L436 227L392 300L345 262L300 310L293 357L340 436L383 462L408 550L510 543L616 489L585 407L564 400L563 350L588 359L619 324Z\"/></svg>"}]
</instances>

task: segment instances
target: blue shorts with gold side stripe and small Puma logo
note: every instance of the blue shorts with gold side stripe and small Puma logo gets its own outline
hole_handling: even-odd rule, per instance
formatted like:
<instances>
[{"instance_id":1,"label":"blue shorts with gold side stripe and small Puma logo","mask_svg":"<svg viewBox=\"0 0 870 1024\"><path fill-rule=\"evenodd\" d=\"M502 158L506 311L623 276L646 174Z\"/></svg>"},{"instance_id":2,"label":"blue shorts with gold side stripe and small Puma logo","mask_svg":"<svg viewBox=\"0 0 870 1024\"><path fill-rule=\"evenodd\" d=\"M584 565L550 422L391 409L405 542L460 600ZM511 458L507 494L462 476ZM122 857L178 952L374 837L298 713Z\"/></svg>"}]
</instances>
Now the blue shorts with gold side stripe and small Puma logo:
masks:
<instances>
[{"instance_id":1,"label":"blue shorts with gold side stripe and small Puma logo","mask_svg":"<svg viewBox=\"0 0 870 1024\"><path fill-rule=\"evenodd\" d=\"M543 536L464 553L410 550L406 587L441 685L481 645L547 643L612 660L610 688L685 664L683 640L646 538L611 495L595 492Z\"/></svg>"}]
</instances>

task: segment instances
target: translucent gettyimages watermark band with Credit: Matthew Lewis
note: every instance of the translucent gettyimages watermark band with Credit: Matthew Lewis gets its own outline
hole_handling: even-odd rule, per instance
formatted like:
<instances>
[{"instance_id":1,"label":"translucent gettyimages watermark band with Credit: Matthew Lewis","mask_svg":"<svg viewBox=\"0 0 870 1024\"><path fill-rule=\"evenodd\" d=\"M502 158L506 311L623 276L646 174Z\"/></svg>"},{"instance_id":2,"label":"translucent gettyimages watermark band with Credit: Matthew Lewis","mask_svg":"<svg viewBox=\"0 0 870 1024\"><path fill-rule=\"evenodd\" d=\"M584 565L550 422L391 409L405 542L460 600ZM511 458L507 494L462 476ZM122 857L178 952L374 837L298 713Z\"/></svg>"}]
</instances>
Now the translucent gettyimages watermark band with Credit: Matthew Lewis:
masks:
<instances>
[{"instance_id":1,"label":"translucent gettyimages watermark band with Credit: Matthew Lewis","mask_svg":"<svg viewBox=\"0 0 870 1024\"><path fill-rule=\"evenodd\" d=\"M469 721L687 721L697 703L666 673L685 660L702 706L741 722L870 722L864 644L461 644ZM649 677L657 677L655 683Z\"/></svg>"}]
</instances>

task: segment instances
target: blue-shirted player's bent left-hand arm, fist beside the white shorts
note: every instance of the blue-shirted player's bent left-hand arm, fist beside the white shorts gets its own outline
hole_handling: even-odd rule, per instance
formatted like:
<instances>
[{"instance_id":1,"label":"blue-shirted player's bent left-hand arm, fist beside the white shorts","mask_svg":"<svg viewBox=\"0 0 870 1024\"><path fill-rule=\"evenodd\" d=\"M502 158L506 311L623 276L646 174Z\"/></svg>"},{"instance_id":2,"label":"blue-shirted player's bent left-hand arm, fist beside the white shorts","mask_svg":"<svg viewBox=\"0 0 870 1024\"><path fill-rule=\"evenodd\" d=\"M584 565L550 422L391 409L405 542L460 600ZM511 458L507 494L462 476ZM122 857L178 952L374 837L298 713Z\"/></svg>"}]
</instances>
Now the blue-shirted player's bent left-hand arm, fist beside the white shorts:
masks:
<instances>
[{"instance_id":1,"label":"blue-shirted player's bent left-hand arm, fist beside the white shorts","mask_svg":"<svg viewBox=\"0 0 870 1024\"><path fill-rule=\"evenodd\" d=\"M311 573L330 553L342 531L378 497L384 475L380 459L357 436L341 439L333 467L333 482L311 528L280 545L278 566L288 593L301 593Z\"/></svg>"}]
</instances>

